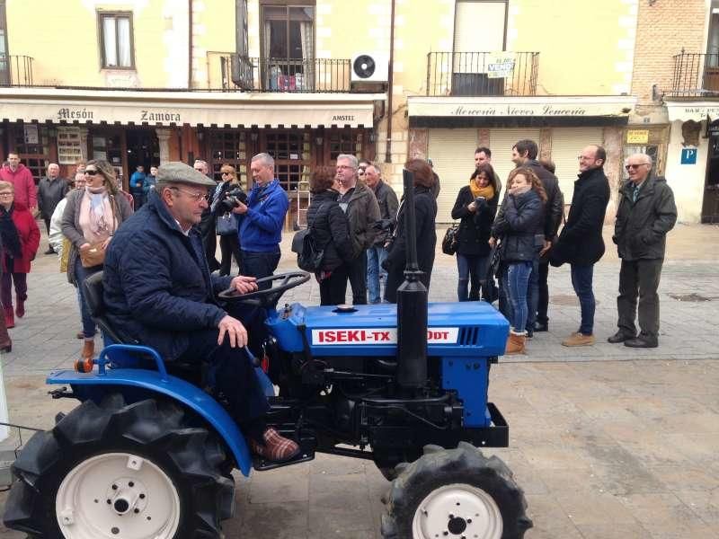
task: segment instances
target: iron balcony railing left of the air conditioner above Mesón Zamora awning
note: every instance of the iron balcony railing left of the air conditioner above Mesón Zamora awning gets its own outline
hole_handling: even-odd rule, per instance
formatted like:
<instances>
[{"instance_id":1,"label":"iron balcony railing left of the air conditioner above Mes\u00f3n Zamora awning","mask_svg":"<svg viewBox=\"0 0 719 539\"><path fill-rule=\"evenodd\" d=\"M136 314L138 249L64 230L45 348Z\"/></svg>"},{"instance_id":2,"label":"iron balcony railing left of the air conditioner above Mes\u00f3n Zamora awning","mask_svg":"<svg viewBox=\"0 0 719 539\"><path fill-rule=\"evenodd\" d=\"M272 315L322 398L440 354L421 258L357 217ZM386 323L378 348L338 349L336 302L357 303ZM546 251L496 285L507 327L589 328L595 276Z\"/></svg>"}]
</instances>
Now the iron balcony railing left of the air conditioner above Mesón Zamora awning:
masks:
<instances>
[{"instance_id":1,"label":"iron balcony railing left of the air conditioner above Mes\u00f3n Zamora awning","mask_svg":"<svg viewBox=\"0 0 719 539\"><path fill-rule=\"evenodd\" d=\"M245 92L348 93L351 61L336 58L220 58L222 88Z\"/></svg>"}]
</instances>

